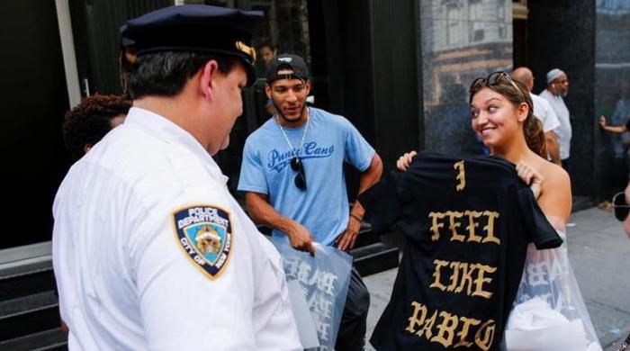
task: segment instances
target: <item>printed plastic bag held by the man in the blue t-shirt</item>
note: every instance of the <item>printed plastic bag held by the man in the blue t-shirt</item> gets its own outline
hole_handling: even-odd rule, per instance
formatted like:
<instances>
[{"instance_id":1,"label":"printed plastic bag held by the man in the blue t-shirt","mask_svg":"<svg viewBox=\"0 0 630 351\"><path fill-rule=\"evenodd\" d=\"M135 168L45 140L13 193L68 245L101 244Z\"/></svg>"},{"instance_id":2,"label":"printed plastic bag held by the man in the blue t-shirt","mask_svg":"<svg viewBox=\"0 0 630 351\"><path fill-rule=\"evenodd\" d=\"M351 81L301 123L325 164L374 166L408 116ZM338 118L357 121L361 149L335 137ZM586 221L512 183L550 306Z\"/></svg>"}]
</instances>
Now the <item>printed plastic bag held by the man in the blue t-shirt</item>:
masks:
<instances>
[{"instance_id":1,"label":"printed plastic bag held by the man in the blue t-shirt","mask_svg":"<svg viewBox=\"0 0 630 351\"><path fill-rule=\"evenodd\" d=\"M283 257L287 282L297 280L306 293L320 347L333 350L346 304L352 257L335 247L313 243L315 257L291 247L286 238L271 238Z\"/></svg>"}]
</instances>

